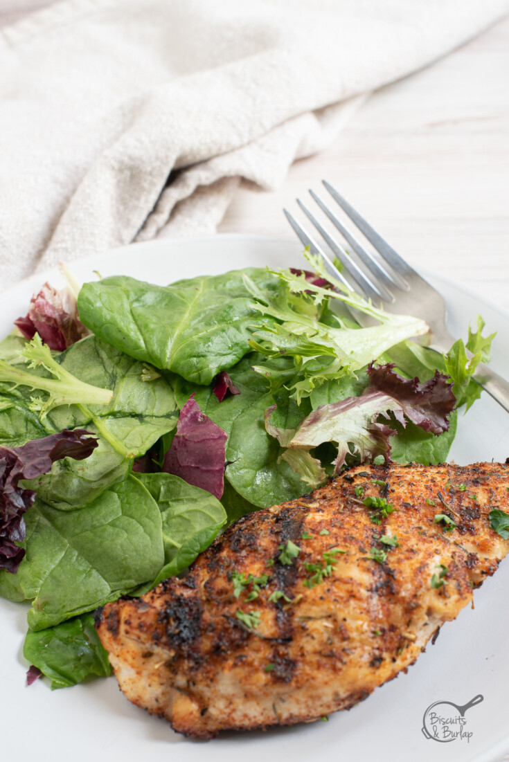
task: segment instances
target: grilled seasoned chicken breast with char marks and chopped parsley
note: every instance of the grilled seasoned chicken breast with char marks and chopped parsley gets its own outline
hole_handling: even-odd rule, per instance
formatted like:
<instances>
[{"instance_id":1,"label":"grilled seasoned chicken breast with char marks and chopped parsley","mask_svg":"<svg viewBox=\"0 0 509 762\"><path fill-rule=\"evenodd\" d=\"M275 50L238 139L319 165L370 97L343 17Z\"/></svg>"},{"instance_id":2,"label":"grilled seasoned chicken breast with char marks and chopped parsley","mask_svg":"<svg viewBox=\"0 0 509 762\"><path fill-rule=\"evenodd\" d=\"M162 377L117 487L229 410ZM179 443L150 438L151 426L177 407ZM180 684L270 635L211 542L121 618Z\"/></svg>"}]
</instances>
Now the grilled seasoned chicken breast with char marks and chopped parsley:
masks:
<instances>
[{"instance_id":1,"label":"grilled seasoned chicken breast with char marks and chopped parsley","mask_svg":"<svg viewBox=\"0 0 509 762\"><path fill-rule=\"evenodd\" d=\"M358 466L243 517L187 577L98 614L120 688L195 738L354 706L494 573L508 489L500 463Z\"/></svg>"}]
</instances>

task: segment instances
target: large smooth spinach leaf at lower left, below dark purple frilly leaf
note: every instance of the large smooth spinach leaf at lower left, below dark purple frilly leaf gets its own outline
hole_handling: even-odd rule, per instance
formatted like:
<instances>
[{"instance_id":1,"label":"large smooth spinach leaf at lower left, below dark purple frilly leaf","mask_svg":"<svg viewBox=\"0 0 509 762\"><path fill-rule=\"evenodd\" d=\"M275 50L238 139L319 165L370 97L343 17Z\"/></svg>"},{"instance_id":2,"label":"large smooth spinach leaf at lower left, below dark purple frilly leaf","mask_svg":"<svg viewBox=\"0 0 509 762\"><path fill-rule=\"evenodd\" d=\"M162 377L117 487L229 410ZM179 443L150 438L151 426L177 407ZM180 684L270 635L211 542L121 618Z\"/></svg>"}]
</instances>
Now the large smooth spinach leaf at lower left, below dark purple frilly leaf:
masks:
<instances>
[{"instance_id":1,"label":"large smooth spinach leaf at lower left, below dark purple frilly leaf","mask_svg":"<svg viewBox=\"0 0 509 762\"><path fill-rule=\"evenodd\" d=\"M0 571L0 594L33 600L31 629L116 600L153 580L164 564L161 512L133 475L81 511L58 511L37 498L26 515L27 555L15 575Z\"/></svg>"}]
</instances>

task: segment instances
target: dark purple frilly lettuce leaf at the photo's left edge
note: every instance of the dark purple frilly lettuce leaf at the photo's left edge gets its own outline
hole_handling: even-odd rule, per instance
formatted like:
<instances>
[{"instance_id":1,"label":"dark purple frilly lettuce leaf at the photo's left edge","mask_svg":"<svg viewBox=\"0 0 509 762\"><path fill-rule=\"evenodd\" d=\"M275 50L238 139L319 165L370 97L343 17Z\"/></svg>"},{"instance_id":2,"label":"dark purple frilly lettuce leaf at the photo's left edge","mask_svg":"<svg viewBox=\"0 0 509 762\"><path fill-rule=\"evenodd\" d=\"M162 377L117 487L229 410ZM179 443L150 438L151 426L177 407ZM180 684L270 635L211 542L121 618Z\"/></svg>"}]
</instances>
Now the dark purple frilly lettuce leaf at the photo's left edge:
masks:
<instances>
[{"instance_id":1,"label":"dark purple frilly lettuce leaf at the photo's left edge","mask_svg":"<svg viewBox=\"0 0 509 762\"><path fill-rule=\"evenodd\" d=\"M98 440L84 429L64 429L22 447L0 446L0 569L15 574L25 555L24 548L14 543L24 540L23 514L34 504L35 492L22 488L20 479L45 474L62 458L88 458L97 446Z\"/></svg>"}]
</instances>

